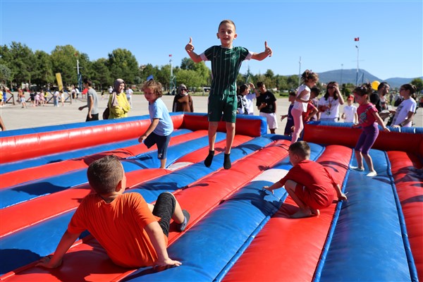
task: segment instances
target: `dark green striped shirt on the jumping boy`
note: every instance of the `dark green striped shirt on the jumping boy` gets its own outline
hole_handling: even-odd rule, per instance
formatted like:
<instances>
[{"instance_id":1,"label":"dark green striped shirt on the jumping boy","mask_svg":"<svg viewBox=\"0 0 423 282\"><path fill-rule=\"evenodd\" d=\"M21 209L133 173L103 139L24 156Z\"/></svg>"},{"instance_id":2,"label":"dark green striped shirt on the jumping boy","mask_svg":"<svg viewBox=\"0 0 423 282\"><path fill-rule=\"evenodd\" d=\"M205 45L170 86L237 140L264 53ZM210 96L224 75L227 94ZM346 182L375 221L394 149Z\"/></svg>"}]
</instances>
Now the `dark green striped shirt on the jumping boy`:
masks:
<instances>
[{"instance_id":1,"label":"dark green striped shirt on the jumping boy","mask_svg":"<svg viewBox=\"0 0 423 282\"><path fill-rule=\"evenodd\" d=\"M236 78L241 63L250 60L251 54L244 47L231 49L213 46L201 54L203 61L212 62L212 87L210 95L236 95Z\"/></svg>"}]
</instances>

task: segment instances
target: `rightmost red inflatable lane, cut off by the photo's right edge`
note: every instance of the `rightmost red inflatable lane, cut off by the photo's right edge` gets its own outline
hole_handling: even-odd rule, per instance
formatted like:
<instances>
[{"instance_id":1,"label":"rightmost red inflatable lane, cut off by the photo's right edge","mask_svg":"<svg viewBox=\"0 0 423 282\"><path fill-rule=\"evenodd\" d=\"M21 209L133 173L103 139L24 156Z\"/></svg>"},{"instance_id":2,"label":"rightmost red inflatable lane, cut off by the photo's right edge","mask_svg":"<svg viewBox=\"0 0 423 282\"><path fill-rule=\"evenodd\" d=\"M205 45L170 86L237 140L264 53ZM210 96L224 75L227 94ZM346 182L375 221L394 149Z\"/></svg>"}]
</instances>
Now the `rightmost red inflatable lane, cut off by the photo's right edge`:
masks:
<instances>
[{"instance_id":1,"label":"rightmost red inflatable lane, cut off by the photo's right edge","mask_svg":"<svg viewBox=\"0 0 423 282\"><path fill-rule=\"evenodd\" d=\"M391 171L407 226L417 276L423 281L423 168L419 158L405 152L388 152Z\"/></svg>"}]
</instances>

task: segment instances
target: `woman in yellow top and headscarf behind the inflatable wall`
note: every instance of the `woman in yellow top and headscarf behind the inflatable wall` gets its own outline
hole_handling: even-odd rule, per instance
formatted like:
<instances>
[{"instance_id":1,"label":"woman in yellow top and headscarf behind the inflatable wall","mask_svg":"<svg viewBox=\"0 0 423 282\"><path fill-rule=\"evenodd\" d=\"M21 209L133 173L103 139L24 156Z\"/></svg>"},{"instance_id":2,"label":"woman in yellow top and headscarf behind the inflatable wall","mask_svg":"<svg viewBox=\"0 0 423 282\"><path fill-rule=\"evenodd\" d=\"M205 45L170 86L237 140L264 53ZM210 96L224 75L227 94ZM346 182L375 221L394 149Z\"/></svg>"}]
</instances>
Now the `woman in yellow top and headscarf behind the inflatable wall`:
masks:
<instances>
[{"instance_id":1,"label":"woman in yellow top and headscarf behind the inflatable wall","mask_svg":"<svg viewBox=\"0 0 423 282\"><path fill-rule=\"evenodd\" d=\"M125 81L118 78L114 82L114 91L111 93L109 103L107 104L110 111L109 119L125 118L128 116L130 105L123 90L125 90Z\"/></svg>"}]
</instances>

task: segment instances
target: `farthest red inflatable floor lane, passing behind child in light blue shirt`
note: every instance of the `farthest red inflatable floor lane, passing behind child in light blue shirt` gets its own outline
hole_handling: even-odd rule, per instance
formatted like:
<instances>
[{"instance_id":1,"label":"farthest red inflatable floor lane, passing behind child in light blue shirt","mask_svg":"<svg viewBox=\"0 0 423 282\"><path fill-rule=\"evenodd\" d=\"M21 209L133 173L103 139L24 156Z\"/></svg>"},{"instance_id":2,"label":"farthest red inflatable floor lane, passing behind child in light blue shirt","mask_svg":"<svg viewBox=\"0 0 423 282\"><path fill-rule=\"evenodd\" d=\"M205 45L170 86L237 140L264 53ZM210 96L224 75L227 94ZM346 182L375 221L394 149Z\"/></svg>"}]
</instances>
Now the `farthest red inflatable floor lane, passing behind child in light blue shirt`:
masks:
<instances>
[{"instance_id":1,"label":"farthest red inflatable floor lane, passing behind child in light blue shirt","mask_svg":"<svg viewBox=\"0 0 423 282\"><path fill-rule=\"evenodd\" d=\"M198 130L193 133L178 135L171 138L169 146L178 145L182 142L186 142L187 140L194 140L200 137L204 137L206 135L207 130ZM60 146L59 143L57 143L57 145ZM34 168L25 168L24 170L11 171L9 173L4 173L1 175L0 189L11 187L13 185L18 185L20 183L25 183L30 180L57 176L68 171L73 171L75 169L87 168L93 161L95 161L96 159L100 159L106 156L107 154L115 154L117 157L128 158L155 149L157 149L157 147L155 146L147 149L147 147L142 144L133 145L123 149L115 149L113 151L101 152L79 159L69 159L53 164L45 164L44 166L36 166Z\"/></svg>"}]
</instances>

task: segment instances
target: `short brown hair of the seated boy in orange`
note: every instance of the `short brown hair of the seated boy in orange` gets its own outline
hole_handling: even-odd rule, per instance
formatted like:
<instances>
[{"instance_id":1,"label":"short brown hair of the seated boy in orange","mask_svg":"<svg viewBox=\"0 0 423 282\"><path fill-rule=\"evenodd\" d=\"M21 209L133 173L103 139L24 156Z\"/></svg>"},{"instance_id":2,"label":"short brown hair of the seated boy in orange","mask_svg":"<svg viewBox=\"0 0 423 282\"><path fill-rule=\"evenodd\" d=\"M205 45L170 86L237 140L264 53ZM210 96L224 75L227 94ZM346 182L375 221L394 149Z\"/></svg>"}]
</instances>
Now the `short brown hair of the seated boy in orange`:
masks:
<instances>
[{"instance_id":1,"label":"short brown hair of the seated boy in orange","mask_svg":"<svg viewBox=\"0 0 423 282\"><path fill-rule=\"evenodd\" d=\"M87 169L88 182L100 195L114 192L123 178L121 161L115 155L109 155L92 162Z\"/></svg>"}]
</instances>

